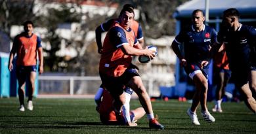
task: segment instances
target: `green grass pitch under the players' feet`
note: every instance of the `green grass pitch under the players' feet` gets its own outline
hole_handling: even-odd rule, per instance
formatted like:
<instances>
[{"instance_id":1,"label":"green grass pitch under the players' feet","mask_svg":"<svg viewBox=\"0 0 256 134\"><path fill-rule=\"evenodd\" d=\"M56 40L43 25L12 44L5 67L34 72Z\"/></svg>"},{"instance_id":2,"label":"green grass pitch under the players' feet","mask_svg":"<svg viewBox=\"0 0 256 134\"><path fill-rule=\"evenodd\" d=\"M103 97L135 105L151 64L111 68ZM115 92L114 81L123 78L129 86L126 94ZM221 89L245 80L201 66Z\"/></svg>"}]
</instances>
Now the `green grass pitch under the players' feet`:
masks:
<instances>
[{"instance_id":1,"label":"green grass pitch under the players' feet","mask_svg":"<svg viewBox=\"0 0 256 134\"><path fill-rule=\"evenodd\" d=\"M222 114L213 113L216 122L207 123L200 115L201 126L192 126L186 115L190 103L152 102L164 130L148 128L146 116L137 127L104 126L100 123L93 99L34 99L34 110L18 111L17 98L0 99L0 133L256 133L256 115L244 103L223 103ZM208 103L209 109L213 103ZM139 107L131 101L131 109Z\"/></svg>"}]
</instances>

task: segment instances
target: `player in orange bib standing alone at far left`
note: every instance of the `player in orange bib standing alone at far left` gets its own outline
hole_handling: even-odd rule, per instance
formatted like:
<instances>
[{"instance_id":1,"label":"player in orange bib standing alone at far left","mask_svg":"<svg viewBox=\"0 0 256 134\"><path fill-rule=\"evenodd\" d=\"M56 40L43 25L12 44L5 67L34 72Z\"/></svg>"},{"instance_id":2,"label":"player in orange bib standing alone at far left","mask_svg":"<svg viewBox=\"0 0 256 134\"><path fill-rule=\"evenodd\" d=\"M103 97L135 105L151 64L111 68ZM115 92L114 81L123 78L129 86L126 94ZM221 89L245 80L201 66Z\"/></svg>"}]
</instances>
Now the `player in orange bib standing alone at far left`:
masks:
<instances>
[{"instance_id":1,"label":"player in orange bib standing alone at far left","mask_svg":"<svg viewBox=\"0 0 256 134\"><path fill-rule=\"evenodd\" d=\"M37 65L37 52L39 57L39 74L43 73L43 48L41 39L33 33L33 22L26 21L23 24L24 32L14 38L9 58L9 71L12 71L12 60L17 54L16 76L18 79L18 97L20 111L24 112L25 82L28 78L28 110L33 110L33 91L35 89L35 76Z\"/></svg>"}]
</instances>

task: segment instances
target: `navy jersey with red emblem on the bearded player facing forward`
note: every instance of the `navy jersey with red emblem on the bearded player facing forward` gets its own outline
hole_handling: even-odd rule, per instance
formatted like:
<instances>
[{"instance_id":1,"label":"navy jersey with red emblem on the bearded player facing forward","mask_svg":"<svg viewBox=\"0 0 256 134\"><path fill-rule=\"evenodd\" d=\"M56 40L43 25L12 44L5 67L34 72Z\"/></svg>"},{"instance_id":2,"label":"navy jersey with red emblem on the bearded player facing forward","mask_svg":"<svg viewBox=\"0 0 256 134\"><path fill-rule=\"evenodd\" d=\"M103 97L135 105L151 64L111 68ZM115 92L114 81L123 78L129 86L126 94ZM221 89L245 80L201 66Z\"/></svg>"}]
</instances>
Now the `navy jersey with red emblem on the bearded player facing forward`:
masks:
<instances>
[{"instance_id":1,"label":"navy jersey with red emblem on the bearded player facing forward","mask_svg":"<svg viewBox=\"0 0 256 134\"><path fill-rule=\"evenodd\" d=\"M201 63L207 60L211 44L217 42L217 32L208 25L197 32L193 25L184 29L175 37L177 44L184 44L184 58L188 63Z\"/></svg>"}]
</instances>

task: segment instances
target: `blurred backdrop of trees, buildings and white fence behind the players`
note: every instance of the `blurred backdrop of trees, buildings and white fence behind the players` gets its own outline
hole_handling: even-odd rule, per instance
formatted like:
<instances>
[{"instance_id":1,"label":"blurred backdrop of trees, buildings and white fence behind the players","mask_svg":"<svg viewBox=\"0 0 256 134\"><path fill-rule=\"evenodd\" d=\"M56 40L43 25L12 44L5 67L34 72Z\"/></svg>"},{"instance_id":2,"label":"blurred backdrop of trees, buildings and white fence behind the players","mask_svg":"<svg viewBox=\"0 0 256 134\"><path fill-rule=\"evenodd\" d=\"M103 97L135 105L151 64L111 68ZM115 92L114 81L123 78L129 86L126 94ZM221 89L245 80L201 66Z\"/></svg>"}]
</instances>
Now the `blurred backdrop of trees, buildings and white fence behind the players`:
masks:
<instances>
[{"instance_id":1,"label":"blurred backdrop of trees, buildings and white fence behind the players","mask_svg":"<svg viewBox=\"0 0 256 134\"><path fill-rule=\"evenodd\" d=\"M17 95L15 73L8 71L8 60L12 41L23 31L26 20L32 20L34 33L42 39L45 59L45 73L37 76L34 95L93 97L101 84L95 29L106 20L117 18L127 3L135 7L135 20L142 25L145 45L158 47L158 56L150 63L133 59L148 93L156 98L192 98L194 86L170 46L175 35L190 25L193 10L205 11L205 24L217 31L222 12L230 7L238 8L240 22L256 25L256 0L0 0L1 97ZM211 100L215 93L211 78L209 86ZM234 89L230 80L228 98L232 98Z\"/></svg>"}]
</instances>

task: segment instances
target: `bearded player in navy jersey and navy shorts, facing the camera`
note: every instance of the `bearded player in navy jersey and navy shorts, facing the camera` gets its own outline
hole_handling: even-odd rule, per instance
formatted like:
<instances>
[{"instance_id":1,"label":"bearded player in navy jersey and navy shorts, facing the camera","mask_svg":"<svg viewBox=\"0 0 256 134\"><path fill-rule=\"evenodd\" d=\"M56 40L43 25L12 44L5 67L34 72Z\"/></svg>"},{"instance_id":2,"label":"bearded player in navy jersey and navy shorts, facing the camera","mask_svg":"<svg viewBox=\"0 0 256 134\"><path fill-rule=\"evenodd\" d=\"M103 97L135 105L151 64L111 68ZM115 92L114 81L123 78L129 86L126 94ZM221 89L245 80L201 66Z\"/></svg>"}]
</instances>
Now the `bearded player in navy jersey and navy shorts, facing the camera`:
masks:
<instances>
[{"instance_id":1,"label":"bearded player in navy jersey and navy shorts, facing the camera","mask_svg":"<svg viewBox=\"0 0 256 134\"><path fill-rule=\"evenodd\" d=\"M192 78L196 85L196 93L190 109L187 110L188 116L192 120L192 124L200 125L196 115L196 109L201 103L202 116L207 122L215 122L215 118L211 116L207 110L207 89L208 89L208 69L209 69L209 50L211 44L217 41L217 32L204 25L205 18L202 10L194 10L192 12L192 25L183 29L175 40L171 48L180 59L181 65L184 67L187 75ZM181 54L179 45L184 45L184 56Z\"/></svg>"}]
</instances>

